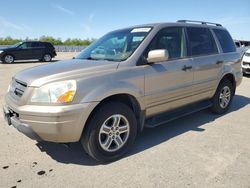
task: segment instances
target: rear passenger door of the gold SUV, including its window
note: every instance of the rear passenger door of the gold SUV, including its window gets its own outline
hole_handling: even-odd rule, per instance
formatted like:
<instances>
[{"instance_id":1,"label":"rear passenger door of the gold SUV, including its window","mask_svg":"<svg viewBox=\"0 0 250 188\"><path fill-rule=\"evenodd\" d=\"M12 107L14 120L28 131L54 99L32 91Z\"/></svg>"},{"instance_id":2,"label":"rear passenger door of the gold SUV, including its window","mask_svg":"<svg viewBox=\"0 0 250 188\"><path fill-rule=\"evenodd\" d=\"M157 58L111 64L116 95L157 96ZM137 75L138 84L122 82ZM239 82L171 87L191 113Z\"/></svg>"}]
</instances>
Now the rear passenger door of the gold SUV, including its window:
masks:
<instances>
[{"instance_id":1,"label":"rear passenger door of the gold SUV, including its window","mask_svg":"<svg viewBox=\"0 0 250 188\"><path fill-rule=\"evenodd\" d=\"M194 100L210 98L222 68L218 46L209 28L187 27L189 55L194 66Z\"/></svg>"}]
</instances>

